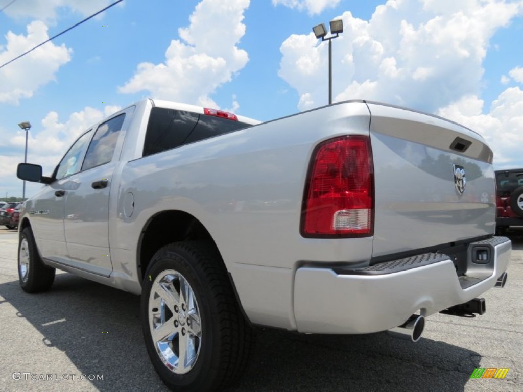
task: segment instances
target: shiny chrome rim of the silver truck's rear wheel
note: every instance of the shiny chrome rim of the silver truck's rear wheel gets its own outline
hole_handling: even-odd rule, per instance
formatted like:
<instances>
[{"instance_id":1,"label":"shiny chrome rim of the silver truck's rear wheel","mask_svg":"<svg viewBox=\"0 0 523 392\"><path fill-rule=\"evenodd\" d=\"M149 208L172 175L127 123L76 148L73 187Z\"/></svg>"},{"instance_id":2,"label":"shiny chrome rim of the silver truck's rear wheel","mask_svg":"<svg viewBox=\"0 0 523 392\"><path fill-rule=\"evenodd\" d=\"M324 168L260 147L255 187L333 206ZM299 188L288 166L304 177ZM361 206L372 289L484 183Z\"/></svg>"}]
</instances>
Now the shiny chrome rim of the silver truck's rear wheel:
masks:
<instances>
[{"instance_id":1,"label":"shiny chrome rim of the silver truck's rear wheel","mask_svg":"<svg viewBox=\"0 0 523 392\"><path fill-rule=\"evenodd\" d=\"M198 303L175 270L161 272L152 284L149 328L156 353L171 372L185 374L195 366L202 339Z\"/></svg>"}]
</instances>

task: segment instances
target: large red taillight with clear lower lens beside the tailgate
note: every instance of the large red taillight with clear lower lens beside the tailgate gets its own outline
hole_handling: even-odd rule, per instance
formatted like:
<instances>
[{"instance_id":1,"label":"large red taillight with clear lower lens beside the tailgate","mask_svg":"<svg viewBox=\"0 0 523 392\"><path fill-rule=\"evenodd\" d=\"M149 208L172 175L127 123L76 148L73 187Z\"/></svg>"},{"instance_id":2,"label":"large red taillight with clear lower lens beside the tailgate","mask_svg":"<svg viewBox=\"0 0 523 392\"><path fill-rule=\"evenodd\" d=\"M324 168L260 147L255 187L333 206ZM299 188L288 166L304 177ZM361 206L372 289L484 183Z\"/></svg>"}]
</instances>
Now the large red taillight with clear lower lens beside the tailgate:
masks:
<instances>
[{"instance_id":1,"label":"large red taillight with clear lower lens beside the tailgate","mask_svg":"<svg viewBox=\"0 0 523 392\"><path fill-rule=\"evenodd\" d=\"M373 170L367 136L344 136L316 147L303 200L304 237L372 235Z\"/></svg>"}]
</instances>

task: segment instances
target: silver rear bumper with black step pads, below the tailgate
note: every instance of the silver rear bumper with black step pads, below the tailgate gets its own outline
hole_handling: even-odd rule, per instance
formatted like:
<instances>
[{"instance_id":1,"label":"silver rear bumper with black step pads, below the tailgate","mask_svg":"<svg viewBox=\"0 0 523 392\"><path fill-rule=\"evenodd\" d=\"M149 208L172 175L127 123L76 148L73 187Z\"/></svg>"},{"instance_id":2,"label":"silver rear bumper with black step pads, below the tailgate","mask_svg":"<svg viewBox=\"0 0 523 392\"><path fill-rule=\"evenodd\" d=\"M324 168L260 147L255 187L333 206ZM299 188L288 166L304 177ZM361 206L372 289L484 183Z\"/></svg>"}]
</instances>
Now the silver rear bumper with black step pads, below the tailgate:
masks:
<instances>
[{"instance_id":1,"label":"silver rear bumper with black step pads, below the tailgate","mask_svg":"<svg viewBox=\"0 0 523 392\"><path fill-rule=\"evenodd\" d=\"M488 263L472 262L472 250L480 248L489 249ZM437 253L355 270L299 268L294 279L297 329L372 333L399 326L417 312L428 316L465 303L494 287L510 250L505 237L470 244L470 265L460 278L451 258Z\"/></svg>"}]
</instances>

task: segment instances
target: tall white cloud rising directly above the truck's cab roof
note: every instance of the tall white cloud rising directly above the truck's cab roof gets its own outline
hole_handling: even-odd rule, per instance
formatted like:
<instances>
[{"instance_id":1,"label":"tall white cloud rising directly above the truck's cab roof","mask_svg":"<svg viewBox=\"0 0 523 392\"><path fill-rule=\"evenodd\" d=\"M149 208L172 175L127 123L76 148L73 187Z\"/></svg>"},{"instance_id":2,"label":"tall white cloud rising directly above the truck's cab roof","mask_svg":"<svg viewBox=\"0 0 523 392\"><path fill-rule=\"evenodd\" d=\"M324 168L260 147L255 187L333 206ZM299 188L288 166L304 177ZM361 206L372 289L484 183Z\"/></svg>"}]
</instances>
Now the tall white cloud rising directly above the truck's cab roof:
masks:
<instances>
[{"instance_id":1,"label":"tall white cloud rising directly above the truck's cab roof","mask_svg":"<svg viewBox=\"0 0 523 392\"><path fill-rule=\"evenodd\" d=\"M147 90L156 98L217 107L210 98L248 61L237 47L245 34L244 11L249 0L202 0L190 16L190 26L178 29L161 64L141 63L120 93Z\"/></svg>"}]
</instances>

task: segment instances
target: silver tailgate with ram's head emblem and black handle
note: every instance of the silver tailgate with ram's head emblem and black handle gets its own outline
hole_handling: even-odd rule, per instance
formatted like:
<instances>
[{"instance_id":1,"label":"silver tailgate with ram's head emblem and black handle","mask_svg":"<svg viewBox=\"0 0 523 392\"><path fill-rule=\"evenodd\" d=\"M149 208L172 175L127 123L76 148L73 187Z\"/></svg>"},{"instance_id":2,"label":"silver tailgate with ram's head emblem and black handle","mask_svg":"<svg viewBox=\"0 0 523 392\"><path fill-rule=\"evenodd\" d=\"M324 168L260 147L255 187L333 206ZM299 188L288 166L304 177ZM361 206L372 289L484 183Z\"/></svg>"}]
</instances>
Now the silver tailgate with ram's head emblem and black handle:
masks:
<instances>
[{"instance_id":1,"label":"silver tailgate with ram's head emblem and black handle","mask_svg":"<svg viewBox=\"0 0 523 392\"><path fill-rule=\"evenodd\" d=\"M492 151L427 114L368 103L376 205L372 257L495 231Z\"/></svg>"}]
</instances>

